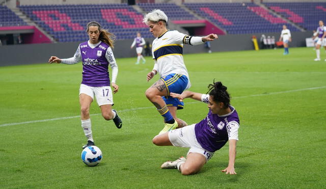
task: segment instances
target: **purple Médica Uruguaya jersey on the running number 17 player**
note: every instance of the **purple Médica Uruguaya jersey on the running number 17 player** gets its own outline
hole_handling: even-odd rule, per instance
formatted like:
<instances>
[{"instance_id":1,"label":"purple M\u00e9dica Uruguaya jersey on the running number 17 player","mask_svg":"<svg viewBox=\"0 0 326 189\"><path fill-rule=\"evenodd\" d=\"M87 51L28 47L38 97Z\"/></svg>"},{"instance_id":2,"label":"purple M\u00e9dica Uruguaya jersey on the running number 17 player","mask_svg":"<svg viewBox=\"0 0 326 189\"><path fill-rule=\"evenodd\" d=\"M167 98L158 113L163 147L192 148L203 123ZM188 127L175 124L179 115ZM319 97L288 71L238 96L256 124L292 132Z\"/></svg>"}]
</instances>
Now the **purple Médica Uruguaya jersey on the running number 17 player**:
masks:
<instances>
[{"instance_id":1,"label":"purple M\u00e9dica Uruguaya jersey on the running number 17 player","mask_svg":"<svg viewBox=\"0 0 326 189\"><path fill-rule=\"evenodd\" d=\"M95 48L88 46L87 41L79 44L83 62L83 81L90 87L110 86L108 76L108 62L105 58L106 50L109 46L103 42ZM110 58L112 55L108 55Z\"/></svg>"}]
</instances>

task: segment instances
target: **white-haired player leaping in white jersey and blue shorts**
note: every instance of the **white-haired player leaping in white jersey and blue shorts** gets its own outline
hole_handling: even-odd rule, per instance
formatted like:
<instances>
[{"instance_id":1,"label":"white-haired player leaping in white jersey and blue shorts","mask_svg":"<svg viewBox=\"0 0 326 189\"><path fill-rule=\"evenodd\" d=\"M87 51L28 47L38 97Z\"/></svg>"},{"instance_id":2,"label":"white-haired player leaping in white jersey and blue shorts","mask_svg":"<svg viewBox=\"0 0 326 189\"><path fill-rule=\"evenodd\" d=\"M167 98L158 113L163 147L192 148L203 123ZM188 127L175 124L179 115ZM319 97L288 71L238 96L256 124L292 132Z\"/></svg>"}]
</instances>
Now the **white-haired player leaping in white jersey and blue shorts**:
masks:
<instances>
[{"instance_id":1,"label":"white-haired player leaping in white jersey and blue shorts","mask_svg":"<svg viewBox=\"0 0 326 189\"><path fill-rule=\"evenodd\" d=\"M147 82L159 73L160 79L146 90L146 97L164 117L164 128L159 133L186 126L177 118L177 110L183 109L183 102L170 96L170 92L182 93L191 87L188 71L182 57L183 44L200 45L206 41L218 39L216 34L195 37L170 31L166 28L168 16L161 10L154 9L146 14L143 22L156 39L153 41L152 54L154 68L147 74Z\"/></svg>"}]
</instances>

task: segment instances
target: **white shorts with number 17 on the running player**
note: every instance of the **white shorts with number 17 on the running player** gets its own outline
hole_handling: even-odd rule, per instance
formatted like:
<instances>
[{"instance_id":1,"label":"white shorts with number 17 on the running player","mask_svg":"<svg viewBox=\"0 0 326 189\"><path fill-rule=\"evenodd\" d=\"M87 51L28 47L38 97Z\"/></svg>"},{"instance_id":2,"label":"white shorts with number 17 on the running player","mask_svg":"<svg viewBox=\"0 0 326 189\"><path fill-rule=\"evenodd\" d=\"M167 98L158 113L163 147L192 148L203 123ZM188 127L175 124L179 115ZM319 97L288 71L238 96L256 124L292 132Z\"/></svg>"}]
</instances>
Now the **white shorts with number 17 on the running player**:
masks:
<instances>
[{"instance_id":1,"label":"white shorts with number 17 on the running player","mask_svg":"<svg viewBox=\"0 0 326 189\"><path fill-rule=\"evenodd\" d=\"M96 102L99 106L111 104L113 105L113 95L112 89L110 86L104 87L90 87L84 84L80 84L79 88L79 95L80 94L87 94L88 96L94 99L94 95L96 98Z\"/></svg>"}]
</instances>

